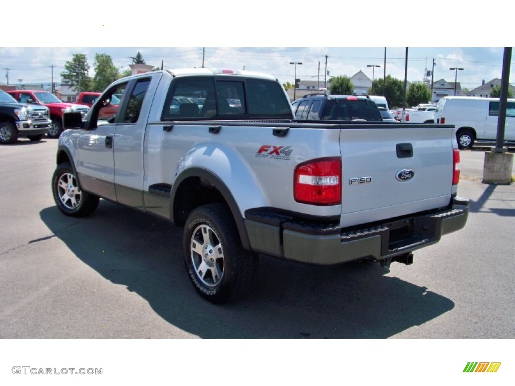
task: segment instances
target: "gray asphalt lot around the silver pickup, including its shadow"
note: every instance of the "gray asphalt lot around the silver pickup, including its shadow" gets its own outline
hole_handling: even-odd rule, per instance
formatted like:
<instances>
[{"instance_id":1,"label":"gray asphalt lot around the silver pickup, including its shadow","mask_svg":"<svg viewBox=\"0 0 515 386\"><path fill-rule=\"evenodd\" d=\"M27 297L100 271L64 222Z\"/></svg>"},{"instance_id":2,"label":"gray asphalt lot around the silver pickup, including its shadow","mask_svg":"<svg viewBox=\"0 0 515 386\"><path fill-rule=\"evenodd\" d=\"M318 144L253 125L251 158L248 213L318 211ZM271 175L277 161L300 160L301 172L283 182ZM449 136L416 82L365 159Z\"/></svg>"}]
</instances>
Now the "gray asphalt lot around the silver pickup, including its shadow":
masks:
<instances>
[{"instance_id":1,"label":"gray asphalt lot around the silver pickup, including its shadow","mask_svg":"<svg viewBox=\"0 0 515 386\"><path fill-rule=\"evenodd\" d=\"M177 227L104 200L59 212L56 144L0 148L0 338L515 338L515 186L480 183L482 151L461 152L467 226L413 265L262 257L252 294L215 306L188 282Z\"/></svg>"}]
</instances>

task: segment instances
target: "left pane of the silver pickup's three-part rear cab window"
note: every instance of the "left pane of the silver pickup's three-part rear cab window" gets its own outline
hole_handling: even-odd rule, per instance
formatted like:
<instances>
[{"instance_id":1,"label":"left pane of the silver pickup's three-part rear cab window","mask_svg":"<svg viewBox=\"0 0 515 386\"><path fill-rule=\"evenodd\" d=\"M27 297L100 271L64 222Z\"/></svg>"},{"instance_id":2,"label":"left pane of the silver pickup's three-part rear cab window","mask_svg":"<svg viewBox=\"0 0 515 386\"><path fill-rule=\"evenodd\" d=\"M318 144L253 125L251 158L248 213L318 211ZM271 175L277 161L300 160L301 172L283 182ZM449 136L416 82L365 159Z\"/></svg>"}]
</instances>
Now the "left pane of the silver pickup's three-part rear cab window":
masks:
<instances>
[{"instance_id":1,"label":"left pane of the silver pickup's three-part rear cab window","mask_svg":"<svg viewBox=\"0 0 515 386\"><path fill-rule=\"evenodd\" d=\"M216 116L216 96L212 78L178 78L173 81L166 97L161 120L214 116Z\"/></svg>"}]
</instances>

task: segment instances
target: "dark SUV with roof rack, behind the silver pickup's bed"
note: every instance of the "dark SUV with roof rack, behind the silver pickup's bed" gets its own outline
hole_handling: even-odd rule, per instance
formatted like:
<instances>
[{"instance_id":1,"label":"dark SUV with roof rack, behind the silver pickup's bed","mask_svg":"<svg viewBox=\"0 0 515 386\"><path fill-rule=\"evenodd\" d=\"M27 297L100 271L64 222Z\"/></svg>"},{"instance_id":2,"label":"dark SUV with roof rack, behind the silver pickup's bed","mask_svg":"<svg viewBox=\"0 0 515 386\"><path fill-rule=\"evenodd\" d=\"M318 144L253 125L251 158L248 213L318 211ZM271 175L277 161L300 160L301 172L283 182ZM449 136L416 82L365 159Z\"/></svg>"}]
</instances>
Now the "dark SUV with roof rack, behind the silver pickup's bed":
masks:
<instances>
[{"instance_id":1,"label":"dark SUV with roof rack, behind the silver pickup's bed","mask_svg":"<svg viewBox=\"0 0 515 386\"><path fill-rule=\"evenodd\" d=\"M375 102L368 96L311 94L291 103L296 120L383 121Z\"/></svg>"}]
</instances>

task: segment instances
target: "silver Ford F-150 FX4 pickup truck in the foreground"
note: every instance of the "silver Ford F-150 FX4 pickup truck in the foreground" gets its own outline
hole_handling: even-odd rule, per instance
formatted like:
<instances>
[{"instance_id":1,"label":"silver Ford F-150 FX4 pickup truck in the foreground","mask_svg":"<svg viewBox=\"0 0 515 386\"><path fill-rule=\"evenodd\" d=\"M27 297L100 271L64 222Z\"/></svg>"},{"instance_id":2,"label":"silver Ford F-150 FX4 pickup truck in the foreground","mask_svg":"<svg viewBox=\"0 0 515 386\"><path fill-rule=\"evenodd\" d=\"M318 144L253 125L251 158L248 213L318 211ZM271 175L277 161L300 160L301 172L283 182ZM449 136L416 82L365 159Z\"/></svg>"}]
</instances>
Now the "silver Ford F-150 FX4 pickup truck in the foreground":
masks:
<instances>
[{"instance_id":1,"label":"silver Ford F-150 FX4 pickup truck in the foreground","mask_svg":"<svg viewBox=\"0 0 515 386\"><path fill-rule=\"evenodd\" d=\"M98 119L113 95L113 116ZM85 121L64 121L59 209L86 216L104 198L183 226L188 275L214 303L250 290L260 253L411 264L467 221L452 126L295 120L264 74L135 75L111 84Z\"/></svg>"}]
</instances>

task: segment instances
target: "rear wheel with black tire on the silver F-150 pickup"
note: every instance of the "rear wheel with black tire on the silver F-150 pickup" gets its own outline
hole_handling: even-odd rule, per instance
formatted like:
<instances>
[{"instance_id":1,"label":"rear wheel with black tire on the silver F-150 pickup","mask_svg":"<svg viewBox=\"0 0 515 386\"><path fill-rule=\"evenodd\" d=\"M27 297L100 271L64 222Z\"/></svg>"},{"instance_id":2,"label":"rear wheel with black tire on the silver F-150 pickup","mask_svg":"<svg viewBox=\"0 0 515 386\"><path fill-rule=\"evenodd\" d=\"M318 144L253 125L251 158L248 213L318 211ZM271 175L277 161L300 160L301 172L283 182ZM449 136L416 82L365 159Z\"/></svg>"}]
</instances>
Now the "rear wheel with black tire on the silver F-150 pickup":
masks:
<instances>
[{"instance_id":1,"label":"rear wheel with black tire on the silver F-150 pickup","mask_svg":"<svg viewBox=\"0 0 515 386\"><path fill-rule=\"evenodd\" d=\"M258 256L243 249L224 204L195 208L184 226L184 261L197 292L212 303L241 299L250 292Z\"/></svg>"}]
</instances>

